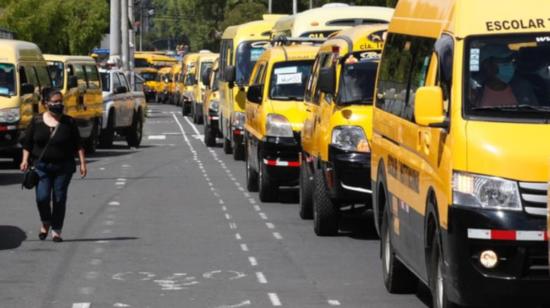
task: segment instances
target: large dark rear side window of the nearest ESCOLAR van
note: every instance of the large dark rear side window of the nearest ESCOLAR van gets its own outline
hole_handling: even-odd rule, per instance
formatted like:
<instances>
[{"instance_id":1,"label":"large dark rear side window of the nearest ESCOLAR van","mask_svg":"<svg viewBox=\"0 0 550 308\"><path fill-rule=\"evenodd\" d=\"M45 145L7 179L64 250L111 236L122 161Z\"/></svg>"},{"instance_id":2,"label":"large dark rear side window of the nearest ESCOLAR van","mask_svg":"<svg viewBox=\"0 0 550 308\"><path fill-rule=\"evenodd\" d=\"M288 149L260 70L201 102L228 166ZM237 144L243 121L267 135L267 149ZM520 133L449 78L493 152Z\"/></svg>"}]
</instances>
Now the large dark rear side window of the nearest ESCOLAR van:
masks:
<instances>
[{"instance_id":1,"label":"large dark rear side window of the nearest ESCOLAR van","mask_svg":"<svg viewBox=\"0 0 550 308\"><path fill-rule=\"evenodd\" d=\"M376 105L413 121L414 94L425 84L435 40L390 34L386 41Z\"/></svg>"}]
</instances>

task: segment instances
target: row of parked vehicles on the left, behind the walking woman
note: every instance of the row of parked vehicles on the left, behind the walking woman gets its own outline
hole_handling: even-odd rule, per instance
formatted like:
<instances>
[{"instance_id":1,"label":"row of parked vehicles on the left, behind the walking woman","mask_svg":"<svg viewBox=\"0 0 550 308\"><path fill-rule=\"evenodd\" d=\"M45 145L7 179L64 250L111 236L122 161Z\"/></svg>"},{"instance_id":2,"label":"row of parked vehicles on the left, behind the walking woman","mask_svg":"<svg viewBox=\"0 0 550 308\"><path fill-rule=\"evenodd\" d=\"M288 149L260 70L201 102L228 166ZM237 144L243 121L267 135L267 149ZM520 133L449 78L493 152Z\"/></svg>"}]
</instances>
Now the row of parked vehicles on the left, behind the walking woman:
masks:
<instances>
[{"instance_id":1,"label":"row of parked vehicles on the left, behind the walking woman","mask_svg":"<svg viewBox=\"0 0 550 308\"><path fill-rule=\"evenodd\" d=\"M0 40L0 156L20 162L20 140L44 111L45 88L63 93L65 113L76 120L88 153L111 147L115 134L138 147L147 104L143 80L136 81L132 88L122 71L98 69L92 57L43 55L33 43Z\"/></svg>"}]
</instances>

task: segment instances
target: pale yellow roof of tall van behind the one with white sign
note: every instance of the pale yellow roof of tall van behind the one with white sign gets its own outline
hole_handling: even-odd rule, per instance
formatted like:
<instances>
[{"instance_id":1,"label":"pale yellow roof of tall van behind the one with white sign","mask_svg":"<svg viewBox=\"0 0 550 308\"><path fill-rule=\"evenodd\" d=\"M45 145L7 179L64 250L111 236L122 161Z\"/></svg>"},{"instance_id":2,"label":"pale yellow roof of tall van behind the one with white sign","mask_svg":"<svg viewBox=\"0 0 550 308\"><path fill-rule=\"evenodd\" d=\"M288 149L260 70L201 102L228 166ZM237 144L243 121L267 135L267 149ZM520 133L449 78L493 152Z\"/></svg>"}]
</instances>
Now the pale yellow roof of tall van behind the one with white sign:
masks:
<instances>
[{"instance_id":1,"label":"pale yellow roof of tall van behind the one with white sign","mask_svg":"<svg viewBox=\"0 0 550 308\"><path fill-rule=\"evenodd\" d=\"M222 39L233 39L237 41L235 45L246 40L269 39L271 36L271 28L273 28L275 22L283 16L286 15L264 15L263 20L227 27L223 32Z\"/></svg>"}]
</instances>

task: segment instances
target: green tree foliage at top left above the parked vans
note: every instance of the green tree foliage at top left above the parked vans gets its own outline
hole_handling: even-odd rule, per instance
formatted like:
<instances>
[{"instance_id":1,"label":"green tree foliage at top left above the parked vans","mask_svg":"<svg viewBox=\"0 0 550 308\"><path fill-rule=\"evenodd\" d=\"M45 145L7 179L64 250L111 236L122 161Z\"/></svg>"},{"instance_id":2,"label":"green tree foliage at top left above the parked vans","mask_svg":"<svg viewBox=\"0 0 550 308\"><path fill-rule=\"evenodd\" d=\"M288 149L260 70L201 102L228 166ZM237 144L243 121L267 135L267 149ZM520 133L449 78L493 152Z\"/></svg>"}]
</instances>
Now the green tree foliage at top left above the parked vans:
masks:
<instances>
[{"instance_id":1,"label":"green tree foliage at top left above the parked vans","mask_svg":"<svg viewBox=\"0 0 550 308\"><path fill-rule=\"evenodd\" d=\"M45 53L88 54L109 25L106 1L1 0L0 27Z\"/></svg>"}]
</instances>

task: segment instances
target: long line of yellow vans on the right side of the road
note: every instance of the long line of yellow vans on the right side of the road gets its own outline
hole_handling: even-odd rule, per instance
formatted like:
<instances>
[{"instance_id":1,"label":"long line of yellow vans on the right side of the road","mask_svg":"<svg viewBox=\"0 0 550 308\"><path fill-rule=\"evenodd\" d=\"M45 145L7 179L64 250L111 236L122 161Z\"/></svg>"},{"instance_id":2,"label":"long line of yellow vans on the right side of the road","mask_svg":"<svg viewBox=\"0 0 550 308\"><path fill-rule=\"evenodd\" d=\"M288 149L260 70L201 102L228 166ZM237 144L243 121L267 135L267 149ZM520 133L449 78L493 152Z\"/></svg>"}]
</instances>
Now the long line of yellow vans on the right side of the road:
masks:
<instances>
[{"instance_id":1,"label":"long line of yellow vans on the right side of the road","mask_svg":"<svg viewBox=\"0 0 550 308\"><path fill-rule=\"evenodd\" d=\"M266 15L227 28L214 64L187 55L176 95L207 146L221 138L245 161L262 201L299 185L316 234L336 234L350 207L372 210L389 292L422 282L437 308L548 303L540 5L401 0L395 12Z\"/></svg>"}]
</instances>

